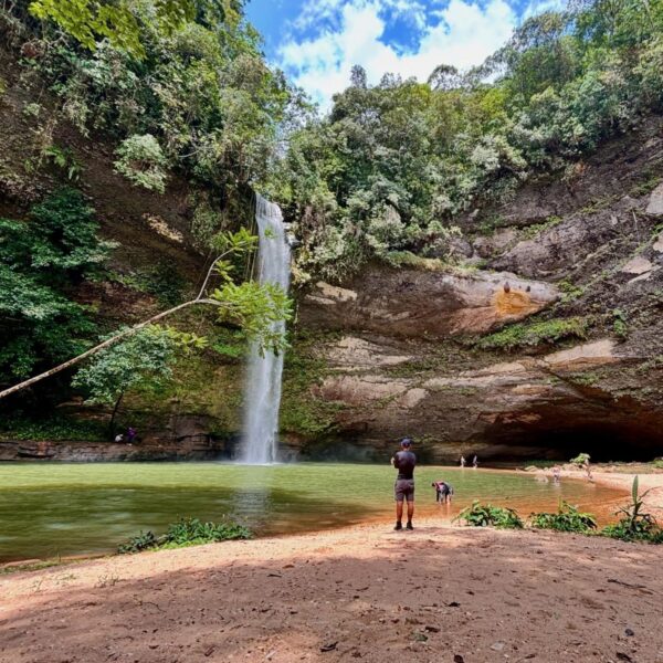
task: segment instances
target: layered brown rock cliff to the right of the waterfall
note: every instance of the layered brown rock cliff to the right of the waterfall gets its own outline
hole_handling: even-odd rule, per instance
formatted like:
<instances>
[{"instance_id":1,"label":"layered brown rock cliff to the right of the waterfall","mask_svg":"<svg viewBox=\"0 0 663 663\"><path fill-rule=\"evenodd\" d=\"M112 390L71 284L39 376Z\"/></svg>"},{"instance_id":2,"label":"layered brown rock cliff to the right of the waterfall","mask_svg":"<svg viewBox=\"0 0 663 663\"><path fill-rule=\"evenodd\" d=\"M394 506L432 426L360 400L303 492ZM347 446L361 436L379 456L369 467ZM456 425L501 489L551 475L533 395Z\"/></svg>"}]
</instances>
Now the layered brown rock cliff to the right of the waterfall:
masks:
<instances>
[{"instance_id":1,"label":"layered brown rock cliff to the right of the waterfall","mask_svg":"<svg viewBox=\"0 0 663 663\"><path fill-rule=\"evenodd\" d=\"M315 370L286 371L306 403L293 419L284 402L291 446L377 459L408 434L435 461L663 453L662 179L652 120L568 181L469 214L464 269L315 284L294 348Z\"/></svg>"}]
</instances>

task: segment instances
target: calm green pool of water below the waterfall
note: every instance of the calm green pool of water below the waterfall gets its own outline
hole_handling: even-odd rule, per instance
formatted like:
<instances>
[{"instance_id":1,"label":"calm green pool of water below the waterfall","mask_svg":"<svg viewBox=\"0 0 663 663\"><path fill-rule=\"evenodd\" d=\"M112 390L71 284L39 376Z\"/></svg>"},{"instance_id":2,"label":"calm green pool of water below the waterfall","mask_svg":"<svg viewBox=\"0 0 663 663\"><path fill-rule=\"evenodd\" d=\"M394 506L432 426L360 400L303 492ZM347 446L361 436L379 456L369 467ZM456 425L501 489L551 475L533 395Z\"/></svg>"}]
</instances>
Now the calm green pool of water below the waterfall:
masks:
<instances>
[{"instance_id":1,"label":"calm green pool of water below the waterfall","mask_svg":"<svg viewBox=\"0 0 663 663\"><path fill-rule=\"evenodd\" d=\"M417 513L449 518L472 499L554 509L567 499L607 519L622 494L580 481L541 483L526 473L419 467ZM0 561L115 550L140 530L161 533L180 516L246 524L259 535L391 519L389 465L221 463L0 465ZM451 508L434 501L433 481L455 488Z\"/></svg>"}]
</instances>

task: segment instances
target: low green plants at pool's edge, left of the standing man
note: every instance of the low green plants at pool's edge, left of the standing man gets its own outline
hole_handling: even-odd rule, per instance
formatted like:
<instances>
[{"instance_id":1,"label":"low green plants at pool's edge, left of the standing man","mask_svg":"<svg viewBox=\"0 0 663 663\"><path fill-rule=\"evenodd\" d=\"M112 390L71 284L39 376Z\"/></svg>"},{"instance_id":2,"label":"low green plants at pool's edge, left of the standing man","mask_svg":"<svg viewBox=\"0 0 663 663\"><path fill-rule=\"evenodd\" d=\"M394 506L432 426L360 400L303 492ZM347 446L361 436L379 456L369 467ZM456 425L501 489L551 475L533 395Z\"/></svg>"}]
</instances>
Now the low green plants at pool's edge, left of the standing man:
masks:
<instances>
[{"instance_id":1,"label":"low green plants at pool's edge, left of the standing man","mask_svg":"<svg viewBox=\"0 0 663 663\"><path fill-rule=\"evenodd\" d=\"M251 532L233 522L203 523L198 518L182 518L168 527L162 536L140 533L118 547L118 552L139 552L164 548L183 548L214 541L251 538Z\"/></svg>"}]
</instances>

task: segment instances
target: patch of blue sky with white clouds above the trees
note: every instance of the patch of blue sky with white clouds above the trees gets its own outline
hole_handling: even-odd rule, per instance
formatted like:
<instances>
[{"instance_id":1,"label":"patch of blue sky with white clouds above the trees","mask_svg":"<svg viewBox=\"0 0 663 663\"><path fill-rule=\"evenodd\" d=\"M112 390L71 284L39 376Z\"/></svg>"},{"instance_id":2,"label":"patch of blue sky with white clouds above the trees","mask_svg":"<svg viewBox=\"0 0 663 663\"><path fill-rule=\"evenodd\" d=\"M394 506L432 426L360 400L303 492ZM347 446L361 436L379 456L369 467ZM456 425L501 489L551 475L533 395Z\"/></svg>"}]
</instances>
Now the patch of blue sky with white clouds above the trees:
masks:
<instances>
[{"instance_id":1,"label":"patch of blue sky with white clouds above the trees","mask_svg":"<svg viewBox=\"0 0 663 663\"><path fill-rule=\"evenodd\" d=\"M439 64L480 64L528 15L562 0L250 0L267 59L323 109L352 65L425 81Z\"/></svg>"}]
</instances>

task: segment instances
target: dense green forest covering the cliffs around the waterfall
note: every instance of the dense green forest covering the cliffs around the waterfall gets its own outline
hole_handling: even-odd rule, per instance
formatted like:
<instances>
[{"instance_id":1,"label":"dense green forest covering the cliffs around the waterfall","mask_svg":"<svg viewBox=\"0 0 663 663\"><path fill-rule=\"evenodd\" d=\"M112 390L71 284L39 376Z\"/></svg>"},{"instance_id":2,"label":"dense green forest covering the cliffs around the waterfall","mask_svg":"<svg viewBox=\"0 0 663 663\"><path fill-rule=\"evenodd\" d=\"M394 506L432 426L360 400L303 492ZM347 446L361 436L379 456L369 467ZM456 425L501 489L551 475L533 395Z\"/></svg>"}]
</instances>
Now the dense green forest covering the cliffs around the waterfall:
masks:
<instances>
[{"instance_id":1,"label":"dense green forest covering the cliffs around the waterfall","mask_svg":"<svg viewBox=\"0 0 663 663\"><path fill-rule=\"evenodd\" d=\"M200 273L227 256L210 290L224 303L220 328L149 326L53 385L73 379L113 417L126 392L158 390L194 350L232 362L246 336L281 343L264 320L288 316L288 303L246 281L252 191L282 206L302 242L297 287L375 263L462 265L459 240L499 227L496 204L550 177L572 196L597 149L663 108L660 0L573 1L527 19L481 66L440 63L427 82L386 74L370 85L356 66L328 113L270 65L242 0L8 0L0 32L4 62L18 64L0 74L0 105L22 86L11 113L29 126L19 138L29 156L0 164L0 385L140 319L122 307L118 319L99 317L81 296L87 287L149 295L146 318L200 286L166 263L118 271L119 243L102 232L63 127L72 144L109 154L136 199L183 201L183 230L148 222L186 244Z\"/></svg>"}]
</instances>

